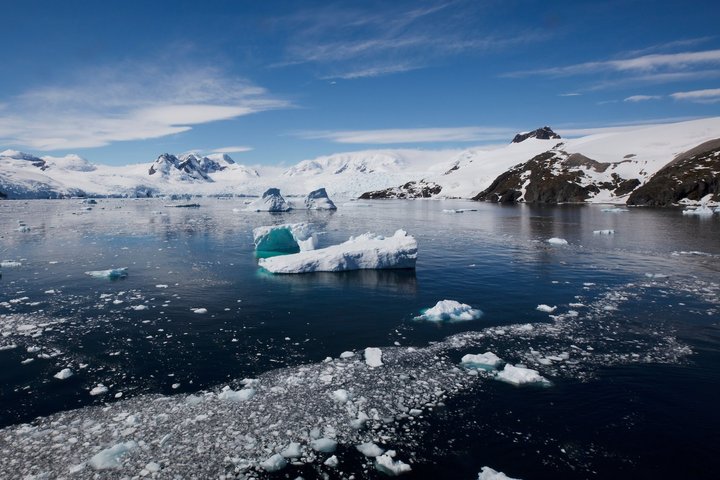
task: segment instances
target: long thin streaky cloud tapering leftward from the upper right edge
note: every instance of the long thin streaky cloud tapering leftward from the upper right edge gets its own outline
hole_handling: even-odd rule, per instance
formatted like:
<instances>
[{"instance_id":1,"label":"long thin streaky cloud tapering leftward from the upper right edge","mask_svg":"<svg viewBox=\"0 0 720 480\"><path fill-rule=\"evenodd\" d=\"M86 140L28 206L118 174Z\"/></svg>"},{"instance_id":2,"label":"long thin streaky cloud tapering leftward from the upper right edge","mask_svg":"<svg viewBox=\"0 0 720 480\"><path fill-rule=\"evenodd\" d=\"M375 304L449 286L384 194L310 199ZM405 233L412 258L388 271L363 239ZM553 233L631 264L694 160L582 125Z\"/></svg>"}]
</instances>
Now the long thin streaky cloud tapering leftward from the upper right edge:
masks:
<instances>
[{"instance_id":1,"label":"long thin streaky cloud tapering leftward from the upper right edge","mask_svg":"<svg viewBox=\"0 0 720 480\"><path fill-rule=\"evenodd\" d=\"M531 75L546 75L550 77L569 77L602 71L653 72L659 69L682 70L688 67L708 64L720 64L720 50L641 55L619 60L604 60L538 70L524 70L507 73L504 76L527 77Z\"/></svg>"}]
</instances>

